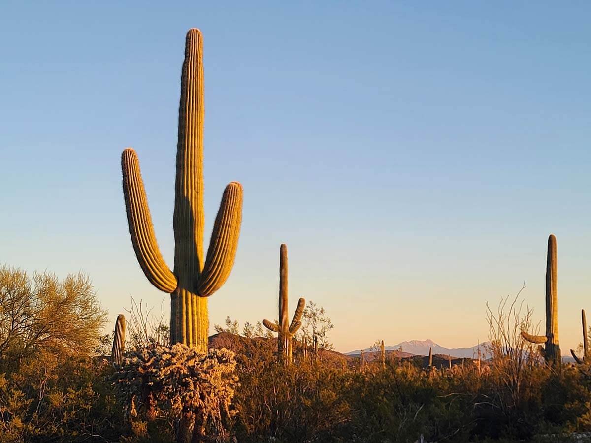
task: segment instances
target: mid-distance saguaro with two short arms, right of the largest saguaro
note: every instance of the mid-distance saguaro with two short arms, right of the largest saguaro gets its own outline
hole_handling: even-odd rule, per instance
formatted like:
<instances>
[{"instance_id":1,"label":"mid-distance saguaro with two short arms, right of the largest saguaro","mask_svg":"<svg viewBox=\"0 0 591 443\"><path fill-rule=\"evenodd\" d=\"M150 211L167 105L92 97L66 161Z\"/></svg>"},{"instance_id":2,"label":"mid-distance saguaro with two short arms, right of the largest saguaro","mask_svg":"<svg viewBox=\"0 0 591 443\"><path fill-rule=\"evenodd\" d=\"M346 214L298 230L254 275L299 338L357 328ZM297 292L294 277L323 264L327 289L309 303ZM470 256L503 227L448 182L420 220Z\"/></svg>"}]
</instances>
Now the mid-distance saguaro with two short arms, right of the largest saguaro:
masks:
<instances>
[{"instance_id":1,"label":"mid-distance saguaro with two short arms, right of the largest saguaro","mask_svg":"<svg viewBox=\"0 0 591 443\"><path fill-rule=\"evenodd\" d=\"M263 320L262 324L273 332L278 333L278 355L285 364L291 364L293 351L291 337L297 333L301 326L301 315L306 307L306 300L300 298L297 302L296 312L289 323L289 305L287 297L287 246L281 245L279 253L279 321Z\"/></svg>"}]
</instances>

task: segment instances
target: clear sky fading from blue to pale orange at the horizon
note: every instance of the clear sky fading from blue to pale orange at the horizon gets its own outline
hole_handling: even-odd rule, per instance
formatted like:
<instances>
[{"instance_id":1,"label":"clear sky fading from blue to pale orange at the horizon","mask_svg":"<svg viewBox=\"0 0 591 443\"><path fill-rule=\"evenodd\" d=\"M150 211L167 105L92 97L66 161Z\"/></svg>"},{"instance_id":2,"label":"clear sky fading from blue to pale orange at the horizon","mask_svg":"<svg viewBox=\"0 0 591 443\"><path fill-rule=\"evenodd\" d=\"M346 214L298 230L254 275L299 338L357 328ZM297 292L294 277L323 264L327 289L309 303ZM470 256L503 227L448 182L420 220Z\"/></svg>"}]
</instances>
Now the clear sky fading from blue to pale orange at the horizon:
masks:
<instances>
[{"instance_id":1,"label":"clear sky fading from blue to pale orange at the horizon","mask_svg":"<svg viewBox=\"0 0 591 443\"><path fill-rule=\"evenodd\" d=\"M0 263L92 278L112 328L131 297L166 315L129 239L121 151L155 233L172 230L184 35L204 37L206 247L244 188L235 266L209 301L277 318L322 305L336 350L486 340L485 303L523 282L544 327L558 242L563 354L591 310L591 4L30 2L0 5Z\"/></svg>"}]
</instances>

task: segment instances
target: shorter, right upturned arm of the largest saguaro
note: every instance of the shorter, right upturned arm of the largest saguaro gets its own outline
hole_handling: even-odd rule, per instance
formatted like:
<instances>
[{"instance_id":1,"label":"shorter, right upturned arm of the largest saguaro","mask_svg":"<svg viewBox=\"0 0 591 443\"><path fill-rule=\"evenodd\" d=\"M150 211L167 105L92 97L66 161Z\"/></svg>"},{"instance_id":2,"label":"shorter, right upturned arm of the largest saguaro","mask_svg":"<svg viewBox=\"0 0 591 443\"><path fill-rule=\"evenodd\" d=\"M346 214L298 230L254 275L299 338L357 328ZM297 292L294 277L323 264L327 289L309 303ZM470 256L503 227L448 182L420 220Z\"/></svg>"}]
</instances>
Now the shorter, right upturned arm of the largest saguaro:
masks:
<instances>
[{"instance_id":1,"label":"shorter, right upturned arm of the largest saguaro","mask_svg":"<svg viewBox=\"0 0 591 443\"><path fill-rule=\"evenodd\" d=\"M209 297L228 279L236 258L241 223L242 185L233 181L224 190L213 224L207 259L197 286L197 293L201 297Z\"/></svg>"}]
</instances>

